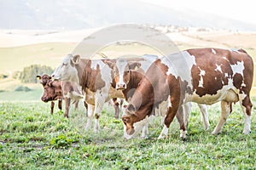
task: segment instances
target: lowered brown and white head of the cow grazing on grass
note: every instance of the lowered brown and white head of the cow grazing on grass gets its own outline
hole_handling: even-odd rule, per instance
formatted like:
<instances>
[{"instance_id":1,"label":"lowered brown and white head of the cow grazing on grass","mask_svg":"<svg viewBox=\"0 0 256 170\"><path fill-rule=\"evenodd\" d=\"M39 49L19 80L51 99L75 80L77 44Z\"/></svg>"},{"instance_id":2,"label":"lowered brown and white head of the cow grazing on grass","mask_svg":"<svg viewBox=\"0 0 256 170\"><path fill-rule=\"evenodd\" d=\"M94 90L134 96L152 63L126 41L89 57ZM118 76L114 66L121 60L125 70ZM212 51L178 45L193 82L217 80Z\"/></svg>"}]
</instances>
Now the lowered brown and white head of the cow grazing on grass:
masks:
<instances>
[{"instance_id":1,"label":"lowered brown and white head of the cow grazing on grass","mask_svg":"<svg viewBox=\"0 0 256 170\"><path fill-rule=\"evenodd\" d=\"M134 105L128 105L125 109L125 114L122 116L122 121L124 122L124 137L125 139L131 139L137 136L143 129L143 126L147 123L148 116L143 120L136 114L136 109Z\"/></svg>"}]
</instances>

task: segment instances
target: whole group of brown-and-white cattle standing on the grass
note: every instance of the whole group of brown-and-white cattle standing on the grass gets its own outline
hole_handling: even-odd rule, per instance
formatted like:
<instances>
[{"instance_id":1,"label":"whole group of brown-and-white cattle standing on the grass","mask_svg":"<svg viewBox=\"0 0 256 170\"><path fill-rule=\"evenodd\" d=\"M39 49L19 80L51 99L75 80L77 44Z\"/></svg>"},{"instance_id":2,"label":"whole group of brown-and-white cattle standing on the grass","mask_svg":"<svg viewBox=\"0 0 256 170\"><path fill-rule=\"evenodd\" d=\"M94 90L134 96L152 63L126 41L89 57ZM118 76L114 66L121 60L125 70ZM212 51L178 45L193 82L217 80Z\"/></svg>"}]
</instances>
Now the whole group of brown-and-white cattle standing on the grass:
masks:
<instances>
[{"instance_id":1,"label":"whole group of brown-and-white cattle standing on the grass","mask_svg":"<svg viewBox=\"0 0 256 170\"><path fill-rule=\"evenodd\" d=\"M85 129L95 117L94 130L99 132L99 118L104 103L112 100L115 117L119 117L117 99L125 99L122 115L125 139L142 132L148 135L148 121L162 116L164 127L158 139L166 138L174 118L180 124L180 137L186 138L191 102L201 109L203 125L209 128L207 105L221 101L221 116L212 134L220 133L239 102L244 115L243 133L251 132L250 90L253 82L253 59L243 49L195 48L159 58L143 55L122 59L81 59L67 54L51 77L38 76L44 87L44 102L65 99L68 116L71 100L84 100L87 111Z\"/></svg>"}]
</instances>

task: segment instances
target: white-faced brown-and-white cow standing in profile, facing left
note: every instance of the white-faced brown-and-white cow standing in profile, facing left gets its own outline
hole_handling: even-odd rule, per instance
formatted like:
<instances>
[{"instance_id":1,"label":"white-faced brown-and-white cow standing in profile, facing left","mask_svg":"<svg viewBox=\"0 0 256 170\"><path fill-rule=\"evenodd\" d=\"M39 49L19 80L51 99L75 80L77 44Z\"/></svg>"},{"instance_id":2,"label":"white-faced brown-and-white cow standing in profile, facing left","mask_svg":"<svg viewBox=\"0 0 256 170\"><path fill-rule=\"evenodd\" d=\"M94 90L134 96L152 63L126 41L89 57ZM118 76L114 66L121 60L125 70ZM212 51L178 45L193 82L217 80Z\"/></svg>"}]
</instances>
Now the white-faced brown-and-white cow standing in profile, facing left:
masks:
<instances>
[{"instance_id":1,"label":"white-faced brown-and-white cow standing in profile, facing left","mask_svg":"<svg viewBox=\"0 0 256 170\"><path fill-rule=\"evenodd\" d=\"M111 62L111 60L109 60ZM105 102L113 98L124 98L123 94L112 87L112 69L104 59L80 59L79 55L67 54L54 73L57 80L77 82L85 93L85 102L88 104L88 120L85 129L91 127L92 118L96 122L94 131L99 132L99 118Z\"/></svg>"}]
</instances>

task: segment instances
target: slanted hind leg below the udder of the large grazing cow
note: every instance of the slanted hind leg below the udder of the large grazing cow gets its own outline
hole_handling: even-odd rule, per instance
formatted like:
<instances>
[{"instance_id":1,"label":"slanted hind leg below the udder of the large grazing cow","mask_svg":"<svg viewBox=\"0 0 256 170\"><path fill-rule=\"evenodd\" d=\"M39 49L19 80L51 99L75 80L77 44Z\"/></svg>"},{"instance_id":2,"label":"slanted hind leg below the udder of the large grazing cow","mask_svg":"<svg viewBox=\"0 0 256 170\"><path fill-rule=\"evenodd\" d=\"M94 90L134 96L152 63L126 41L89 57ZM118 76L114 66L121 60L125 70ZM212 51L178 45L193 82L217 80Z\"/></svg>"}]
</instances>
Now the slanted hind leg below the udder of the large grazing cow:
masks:
<instances>
[{"instance_id":1,"label":"slanted hind leg below the udder of the large grazing cow","mask_svg":"<svg viewBox=\"0 0 256 170\"><path fill-rule=\"evenodd\" d=\"M212 134L220 133L228 116L230 116L230 102L222 100L221 101L221 116L220 116L218 125L214 128L214 130L212 131Z\"/></svg>"}]
</instances>

